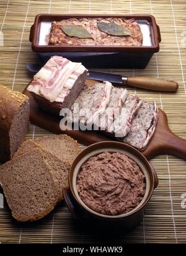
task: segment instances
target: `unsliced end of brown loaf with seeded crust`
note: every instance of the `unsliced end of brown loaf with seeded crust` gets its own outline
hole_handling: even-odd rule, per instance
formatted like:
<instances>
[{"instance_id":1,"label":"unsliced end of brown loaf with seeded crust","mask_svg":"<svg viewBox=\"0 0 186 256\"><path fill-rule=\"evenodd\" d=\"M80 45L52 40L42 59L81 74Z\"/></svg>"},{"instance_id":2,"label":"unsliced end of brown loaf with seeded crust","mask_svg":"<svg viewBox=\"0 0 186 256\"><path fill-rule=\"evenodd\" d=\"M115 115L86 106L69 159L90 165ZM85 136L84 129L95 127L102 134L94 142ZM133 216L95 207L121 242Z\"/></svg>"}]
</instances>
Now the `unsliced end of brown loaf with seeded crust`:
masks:
<instances>
[{"instance_id":1,"label":"unsliced end of brown loaf with seeded crust","mask_svg":"<svg viewBox=\"0 0 186 256\"><path fill-rule=\"evenodd\" d=\"M0 162L12 158L29 129L29 98L0 85Z\"/></svg>"}]
</instances>

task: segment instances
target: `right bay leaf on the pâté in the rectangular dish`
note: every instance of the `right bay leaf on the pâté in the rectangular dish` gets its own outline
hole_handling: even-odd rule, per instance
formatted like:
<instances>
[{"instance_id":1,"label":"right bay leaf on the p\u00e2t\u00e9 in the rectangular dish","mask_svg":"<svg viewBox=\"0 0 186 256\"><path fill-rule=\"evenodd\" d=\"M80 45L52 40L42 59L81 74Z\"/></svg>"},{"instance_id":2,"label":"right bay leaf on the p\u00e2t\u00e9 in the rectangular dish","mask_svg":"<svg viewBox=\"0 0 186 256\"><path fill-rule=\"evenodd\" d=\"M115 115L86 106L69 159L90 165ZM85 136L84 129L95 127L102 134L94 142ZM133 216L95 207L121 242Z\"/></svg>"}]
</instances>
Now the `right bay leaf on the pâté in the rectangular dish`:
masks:
<instances>
[{"instance_id":1,"label":"right bay leaf on the p\u00e2t\u00e9 in the rectangular dish","mask_svg":"<svg viewBox=\"0 0 186 256\"><path fill-rule=\"evenodd\" d=\"M97 27L100 31L112 36L131 36L128 29L125 29L125 27L120 26L115 22L97 22Z\"/></svg>"}]
</instances>

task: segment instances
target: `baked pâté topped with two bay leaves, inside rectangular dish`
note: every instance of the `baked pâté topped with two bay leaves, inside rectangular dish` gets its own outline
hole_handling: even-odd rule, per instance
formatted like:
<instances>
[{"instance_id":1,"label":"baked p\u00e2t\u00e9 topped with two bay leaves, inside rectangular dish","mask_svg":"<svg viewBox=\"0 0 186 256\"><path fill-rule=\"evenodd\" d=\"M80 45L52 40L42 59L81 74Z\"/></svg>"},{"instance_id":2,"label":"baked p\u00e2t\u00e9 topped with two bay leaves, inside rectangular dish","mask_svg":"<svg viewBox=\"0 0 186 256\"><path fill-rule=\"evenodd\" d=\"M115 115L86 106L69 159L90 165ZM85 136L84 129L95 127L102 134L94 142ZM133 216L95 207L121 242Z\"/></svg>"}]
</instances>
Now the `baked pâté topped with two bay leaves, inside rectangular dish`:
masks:
<instances>
[{"instance_id":1,"label":"baked p\u00e2t\u00e9 topped with two bay leaves, inside rectangular dish","mask_svg":"<svg viewBox=\"0 0 186 256\"><path fill-rule=\"evenodd\" d=\"M71 18L51 22L49 44L139 46L143 34L135 19Z\"/></svg>"}]
</instances>

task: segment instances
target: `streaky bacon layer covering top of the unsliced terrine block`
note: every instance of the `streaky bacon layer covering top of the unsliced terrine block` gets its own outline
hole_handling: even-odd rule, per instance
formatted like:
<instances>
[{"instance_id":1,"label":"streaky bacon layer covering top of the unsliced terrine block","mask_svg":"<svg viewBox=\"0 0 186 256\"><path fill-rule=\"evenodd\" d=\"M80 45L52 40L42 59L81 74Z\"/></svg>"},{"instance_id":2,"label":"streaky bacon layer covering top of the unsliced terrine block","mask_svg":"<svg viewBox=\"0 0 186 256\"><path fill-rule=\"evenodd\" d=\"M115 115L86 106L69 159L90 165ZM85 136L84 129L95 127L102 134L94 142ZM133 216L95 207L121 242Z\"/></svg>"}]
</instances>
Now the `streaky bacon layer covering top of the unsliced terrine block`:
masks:
<instances>
[{"instance_id":1,"label":"streaky bacon layer covering top of the unsliced terrine block","mask_svg":"<svg viewBox=\"0 0 186 256\"><path fill-rule=\"evenodd\" d=\"M64 95L68 92L66 88L71 90L79 75L85 71L86 68L81 63L53 56L35 74L27 90L45 97L50 102L63 102Z\"/></svg>"}]
</instances>

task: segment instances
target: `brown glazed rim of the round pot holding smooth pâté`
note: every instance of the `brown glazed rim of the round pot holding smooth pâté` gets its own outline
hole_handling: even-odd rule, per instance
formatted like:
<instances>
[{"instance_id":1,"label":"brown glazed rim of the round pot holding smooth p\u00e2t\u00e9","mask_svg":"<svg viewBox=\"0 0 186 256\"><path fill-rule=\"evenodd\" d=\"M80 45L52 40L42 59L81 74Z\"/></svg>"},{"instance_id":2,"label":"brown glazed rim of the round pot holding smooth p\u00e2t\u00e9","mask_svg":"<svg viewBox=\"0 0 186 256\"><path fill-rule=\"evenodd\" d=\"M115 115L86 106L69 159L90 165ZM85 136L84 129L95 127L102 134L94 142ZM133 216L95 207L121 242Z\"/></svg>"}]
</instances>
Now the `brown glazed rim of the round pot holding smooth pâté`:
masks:
<instances>
[{"instance_id":1,"label":"brown glazed rim of the round pot holding smooth p\u00e2t\u00e9","mask_svg":"<svg viewBox=\"0 0 186 256\"><path fill-rule=\"evenodd\" d=\"M81 201L80 197L78 198L76 196L76 192L74 191L74 186L73 186L74 169L76 168L79 161L81 161L81 159L84 158L84 156L87 156L87 154L91 153L92 151L95 151L97 149L104 149L104 148L111 149L108 151L112 151L112 149L118 149L119 151L120 150L127 151L128 153L135 156L135 158L138 159L138 161L141 162L143 166L145 166L146 171L149 174L149 191L148 191L148 194L146 195L146 198L145 199L143 198L144 201L142 200L143 204L141 204L140 202L139 205L141 204L141 206L139 207L136 206L135 209L133 209L130 212L127 212L126 214L121 214L118 216L107 216L107 215L99 214L98 212L95 212L92 209L89 209L89 207L87 207L86 204L84 204ZM80 168L78 168L78 170L79 169ZM82 209L89 212L89 214L92 214L93 216L97 216L97 217L107 218L107 219L120 219L122 217L132 216L133 214L135 214L135 212L140 211L151 198L154 189L157 187L157 184L158 184L158 179L157 179L156 172L154 171L153 167L148 162L148 160L143 156L143 154L141 154L137 149L133 148L132 146L126 145L125 143L120 143L117 141L103 141L103 142L95 143L95 144L92 144L91 146L88 146L86 149L82 150L81 153L79 153L78 156L74 159L73 164L71 165L71 168L69 171L69 188L71 190L72 196L74 197L74 200L78 203L78 205Z\"/></svg>"}]
</instances>

